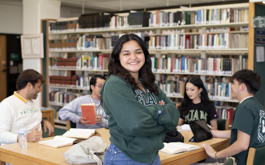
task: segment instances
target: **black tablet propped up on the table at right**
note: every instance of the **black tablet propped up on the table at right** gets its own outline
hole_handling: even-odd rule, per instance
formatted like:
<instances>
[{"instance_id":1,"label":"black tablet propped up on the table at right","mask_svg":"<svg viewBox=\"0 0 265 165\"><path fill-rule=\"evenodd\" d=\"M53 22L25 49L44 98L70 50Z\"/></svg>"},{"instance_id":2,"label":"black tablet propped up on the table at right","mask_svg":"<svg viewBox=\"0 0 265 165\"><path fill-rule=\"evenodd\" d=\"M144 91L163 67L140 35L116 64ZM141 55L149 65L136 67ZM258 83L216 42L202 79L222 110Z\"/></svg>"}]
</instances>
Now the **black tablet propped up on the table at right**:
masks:
<instances>
[{"instance_id":1,"label":"black tablet propped up on the table at right","mask_svg":"<svg viewBox=\"0 0 265 165\"><path fill-rule=\"evenodd\" d=\"M196 142L208 140L213 137L210 128L207 126L204 119L190 121L189 124Z\"/></svg>"}]
</instances>

